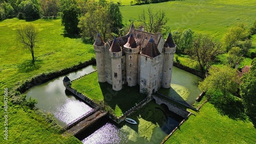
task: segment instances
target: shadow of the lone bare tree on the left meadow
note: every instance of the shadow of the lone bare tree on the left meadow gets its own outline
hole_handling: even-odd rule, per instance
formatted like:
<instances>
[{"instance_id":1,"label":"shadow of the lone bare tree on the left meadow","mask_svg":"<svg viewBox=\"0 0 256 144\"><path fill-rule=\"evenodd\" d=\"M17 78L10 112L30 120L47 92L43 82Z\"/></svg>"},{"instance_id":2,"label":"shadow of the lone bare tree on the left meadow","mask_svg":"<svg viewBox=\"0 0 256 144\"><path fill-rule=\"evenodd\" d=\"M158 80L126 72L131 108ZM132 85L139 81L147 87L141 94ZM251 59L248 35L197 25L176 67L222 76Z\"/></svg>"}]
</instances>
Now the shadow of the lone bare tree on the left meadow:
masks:
<instances>
[{"instance_id":1,"label":"shadow of the lone bare tree on the left meadow","mask_svg":"<svg viewBox=\"0 0 256 144\"><path fill-rule=\"evenodd\" d=\"M22 64L18 65L19 73L29 73L30 71L39 69L41 67L42 60L35 60L33 63L32 60L26 60Z\"/></svg>"}]
</instances>

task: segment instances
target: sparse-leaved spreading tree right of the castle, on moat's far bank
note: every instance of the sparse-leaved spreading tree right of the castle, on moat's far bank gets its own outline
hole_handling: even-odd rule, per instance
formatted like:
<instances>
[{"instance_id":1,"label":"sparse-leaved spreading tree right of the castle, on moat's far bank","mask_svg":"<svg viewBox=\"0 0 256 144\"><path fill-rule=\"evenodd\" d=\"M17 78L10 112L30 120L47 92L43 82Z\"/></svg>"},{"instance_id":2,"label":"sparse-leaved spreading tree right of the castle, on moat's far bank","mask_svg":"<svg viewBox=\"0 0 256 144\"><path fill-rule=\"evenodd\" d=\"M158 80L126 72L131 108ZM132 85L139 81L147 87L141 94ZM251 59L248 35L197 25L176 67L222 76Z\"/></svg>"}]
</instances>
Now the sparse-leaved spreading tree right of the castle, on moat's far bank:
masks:
<instances>
[{"instance_id":1,"label":"sparse-leaved spreading tree right of the castle, on moat's far bank","mask_svg":"<svg viewBox=\"0 0 256 144\"><path fill-rule=\"evenodd\" d=\"M194 37L193 47L187 53L198 62L200 70L212 62L220 54L221 44L214 42L208 35L197 34Z\"/></svg>"}]
</instances>

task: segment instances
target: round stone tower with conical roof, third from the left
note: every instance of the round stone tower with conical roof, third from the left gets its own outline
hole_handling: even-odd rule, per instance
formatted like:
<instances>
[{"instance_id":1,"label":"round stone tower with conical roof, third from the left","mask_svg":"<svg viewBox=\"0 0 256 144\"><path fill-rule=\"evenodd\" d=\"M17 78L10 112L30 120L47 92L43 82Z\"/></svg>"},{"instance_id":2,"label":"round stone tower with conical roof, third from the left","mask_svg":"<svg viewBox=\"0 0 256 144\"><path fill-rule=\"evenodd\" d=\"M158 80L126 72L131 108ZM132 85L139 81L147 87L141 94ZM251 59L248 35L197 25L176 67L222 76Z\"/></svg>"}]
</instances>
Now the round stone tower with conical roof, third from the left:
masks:
<instances>
[{"instance_id":1,"label":"round stone tower with conical roof, third from the left","mask_svg":"<svg viewBox=\"0 0 256 144\"><path fill-rule=\"evenodd\" d=\"M133 34L130 35L124 47L125 63L126 63L126 82L128 86L135 86L138 82L138 53L137 46Z\"/></svg>"}]
</instances>

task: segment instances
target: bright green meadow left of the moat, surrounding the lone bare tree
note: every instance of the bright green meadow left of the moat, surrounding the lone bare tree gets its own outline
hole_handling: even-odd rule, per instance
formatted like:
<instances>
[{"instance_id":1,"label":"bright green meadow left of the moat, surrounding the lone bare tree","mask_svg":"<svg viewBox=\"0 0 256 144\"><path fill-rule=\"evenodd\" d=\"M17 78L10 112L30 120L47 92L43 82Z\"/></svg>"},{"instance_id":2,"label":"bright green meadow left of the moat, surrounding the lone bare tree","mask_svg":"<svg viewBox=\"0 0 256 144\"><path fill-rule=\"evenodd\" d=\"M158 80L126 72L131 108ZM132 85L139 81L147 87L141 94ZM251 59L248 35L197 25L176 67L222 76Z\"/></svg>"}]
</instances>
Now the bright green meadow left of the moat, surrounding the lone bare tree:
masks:
<instances>
[{"instance_id":1,"label":"bright green meadow left of the moat, surrounding the lone bare tree","mask_svg":"<svg viewBox=\"0 0 256 144\"><path fill-rule=\"evenodd\" d=\"M50 73L59 69L71 67L95 57L92 45L82 43L80 38L68 37L63 34L61 19L31 21L39 28L38 42L35 47L35 65L31 64L32 56L23 45L16 40L15 29L25 20L17 18L6 19L0 22L0 87L4 93L4 87L10 91L18 84L39 75ZM4 99L0 104L3 106ZM8 141L3 137L0 143L79 143L71 136L62 136L56 130L50 128L46 118L24 106L14 106L8 101ZM4 108L1 108L4 113ZM0 129L3 136L4 119L1 116ZM55 141L55 142L54 142Z\"/></svg>"}]
</instances>

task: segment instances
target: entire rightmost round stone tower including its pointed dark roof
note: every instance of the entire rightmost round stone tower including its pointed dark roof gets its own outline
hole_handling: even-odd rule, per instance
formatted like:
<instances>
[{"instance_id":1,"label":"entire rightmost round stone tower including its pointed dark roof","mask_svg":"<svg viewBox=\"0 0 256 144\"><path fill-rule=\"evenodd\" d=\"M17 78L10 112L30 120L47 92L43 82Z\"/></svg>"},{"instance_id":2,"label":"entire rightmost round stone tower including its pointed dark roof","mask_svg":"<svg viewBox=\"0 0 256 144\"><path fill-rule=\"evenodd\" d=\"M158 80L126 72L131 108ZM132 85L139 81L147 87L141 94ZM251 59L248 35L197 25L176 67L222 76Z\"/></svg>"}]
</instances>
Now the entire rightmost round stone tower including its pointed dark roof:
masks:
<instances>
[{"instance_id":1,"label":"entire rightmost round stone tower including its pointed dark roof","mask_svg":"<svg viewBox=\"0 0 256 144\"><path fill-rule=\"evenodd\" d=\"M173 41L173 36L169 32L168 37L164 42L163 70L162 70L162 87L170 88L172 79L174 53L176 52L176 44Z\"/></svg>"}]
</instances>

